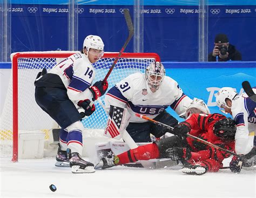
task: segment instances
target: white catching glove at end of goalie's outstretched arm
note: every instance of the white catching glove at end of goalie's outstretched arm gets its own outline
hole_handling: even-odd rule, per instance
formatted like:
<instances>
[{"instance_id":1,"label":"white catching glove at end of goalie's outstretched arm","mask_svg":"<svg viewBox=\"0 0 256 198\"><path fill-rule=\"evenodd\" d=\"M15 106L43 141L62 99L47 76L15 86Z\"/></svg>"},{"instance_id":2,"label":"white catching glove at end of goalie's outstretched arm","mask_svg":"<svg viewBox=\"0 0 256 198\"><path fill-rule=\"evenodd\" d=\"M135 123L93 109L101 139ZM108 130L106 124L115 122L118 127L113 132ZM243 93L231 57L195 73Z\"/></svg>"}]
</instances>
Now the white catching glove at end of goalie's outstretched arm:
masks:
<instances>
[{"instance_id":1,"label":"white catching glove at end of goalie's outstretched arm","mask_svg":"<svg viewBox=\"0 0 256 198\"><path fill-rule=\"evenodd\" d=\"M187 107L184 116L188 118L192 114L211 114L211 112L203 100L195 97L190 105Z\"/></svg>"}]
</instances>

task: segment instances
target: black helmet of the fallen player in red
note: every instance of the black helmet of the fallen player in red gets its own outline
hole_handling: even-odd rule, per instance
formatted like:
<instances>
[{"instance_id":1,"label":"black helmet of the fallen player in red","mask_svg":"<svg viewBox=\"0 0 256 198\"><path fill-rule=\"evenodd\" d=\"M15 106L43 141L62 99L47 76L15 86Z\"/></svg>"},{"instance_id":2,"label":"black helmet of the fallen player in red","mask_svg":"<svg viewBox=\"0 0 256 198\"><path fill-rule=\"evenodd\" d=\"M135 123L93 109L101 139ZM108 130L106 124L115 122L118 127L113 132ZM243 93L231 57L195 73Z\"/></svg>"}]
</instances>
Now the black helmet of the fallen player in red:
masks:
<instances>
[{"instance_id":1,"label":"black helmet of the fallen player in red","mask_svg":"<svg viewBox=\"0 0 256 198\"><path fill-rule=\"evenodd\" d=\"M215 136L228 140L234 139L236 129L235 121L230 118L221 119L213 125L213 132Z\"/></svg>"}]
</instances>

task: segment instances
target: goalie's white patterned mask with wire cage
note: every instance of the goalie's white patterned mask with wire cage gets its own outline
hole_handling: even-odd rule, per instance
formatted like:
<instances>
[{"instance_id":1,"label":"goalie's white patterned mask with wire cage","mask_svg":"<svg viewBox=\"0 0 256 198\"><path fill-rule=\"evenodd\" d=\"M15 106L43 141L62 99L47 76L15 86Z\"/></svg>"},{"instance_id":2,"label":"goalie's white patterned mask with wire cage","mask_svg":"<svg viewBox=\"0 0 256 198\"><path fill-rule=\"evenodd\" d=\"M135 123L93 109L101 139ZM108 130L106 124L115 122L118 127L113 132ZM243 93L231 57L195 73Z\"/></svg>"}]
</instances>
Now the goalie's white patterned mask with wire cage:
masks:
<instances>
[{"instance_id":1,"label":"goalie's white patterned mask with wire cage","mask_svg":"<svg viewBox=\"0 0 256 198\"><path fill-rule=\"evenodd\" d=\"M154 93L159 89L161 82L164 80L165 69L160 62L151 62L146 68L145 78L151 91Z\"/></svg>"}]
</instances>

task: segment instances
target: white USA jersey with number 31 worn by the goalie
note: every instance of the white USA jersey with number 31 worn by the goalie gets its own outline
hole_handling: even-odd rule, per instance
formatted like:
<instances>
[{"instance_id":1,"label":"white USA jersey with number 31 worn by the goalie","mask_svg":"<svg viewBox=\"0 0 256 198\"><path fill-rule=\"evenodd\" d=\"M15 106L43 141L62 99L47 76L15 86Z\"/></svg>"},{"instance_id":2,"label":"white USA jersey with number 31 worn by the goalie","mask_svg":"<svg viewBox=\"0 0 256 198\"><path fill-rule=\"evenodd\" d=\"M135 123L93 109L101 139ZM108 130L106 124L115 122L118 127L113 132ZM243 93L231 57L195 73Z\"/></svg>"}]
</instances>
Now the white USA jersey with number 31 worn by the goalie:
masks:
<instances>
[{"instance_id":1,"label":"white USA jersey with number 31 worn by the goalie","mask_svg":"<svg viewBox=\"0 0 256 198\"><path fill-rule=\"evenodd\" d=\"M169 106L180 115L191 102L191 98L169 76L165 76L159 89L152 93L144 74L141 73L127 76L112 87L105 97L106 110L109 111L110 105L127 108L131 114L130 122L146 122L135 114L143 114L153 119Z\"/></svg>"}]
</instances>

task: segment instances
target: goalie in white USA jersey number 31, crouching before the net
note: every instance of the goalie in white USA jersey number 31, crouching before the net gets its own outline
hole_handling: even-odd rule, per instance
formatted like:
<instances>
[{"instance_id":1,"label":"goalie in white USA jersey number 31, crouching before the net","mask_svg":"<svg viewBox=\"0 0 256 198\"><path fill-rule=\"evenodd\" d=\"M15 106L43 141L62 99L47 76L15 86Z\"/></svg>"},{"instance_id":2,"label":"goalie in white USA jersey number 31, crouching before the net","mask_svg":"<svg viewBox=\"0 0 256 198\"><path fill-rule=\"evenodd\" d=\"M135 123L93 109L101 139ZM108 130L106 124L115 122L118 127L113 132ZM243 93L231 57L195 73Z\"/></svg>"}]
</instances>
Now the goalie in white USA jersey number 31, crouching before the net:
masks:
<instances>
[{"instance_id":1,"label":"goalie in white USA jersey number 31, crouching before the net","mask_svg":"<svg viewBox=\"0 0 256 198\"><path fill-rule=\"evenodd\" d=\"M150 63L145 74L135 73L127 76L105 96L107 111L110 105L127 108L129 111L131 117L126 130L134 142L151 142L150 134L159 138L167 132L162 126L135 116L136 113L175 126L178 124L177 119L165 109L171 107L180 115L191 102L191 98L183 93L178 83L165 76L164 66L160 62Z\"/></svg>"}]
</instances>

